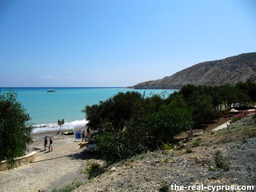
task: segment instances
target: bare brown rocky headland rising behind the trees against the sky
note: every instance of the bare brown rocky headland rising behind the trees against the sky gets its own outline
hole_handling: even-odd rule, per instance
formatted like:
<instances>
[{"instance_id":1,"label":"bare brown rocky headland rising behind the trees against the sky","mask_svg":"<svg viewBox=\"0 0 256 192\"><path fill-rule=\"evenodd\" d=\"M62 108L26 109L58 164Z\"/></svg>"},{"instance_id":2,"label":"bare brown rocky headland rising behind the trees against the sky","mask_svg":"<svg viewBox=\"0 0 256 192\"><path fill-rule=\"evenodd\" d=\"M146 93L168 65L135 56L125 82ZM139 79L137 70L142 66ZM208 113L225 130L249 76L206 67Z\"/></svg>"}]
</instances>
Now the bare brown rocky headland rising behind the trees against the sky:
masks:
<instances>
[{"instance_id":1,"label":"bare brown rocky headland rising behind the trees against the sky","mask_svg":"<svg viewBox=\"0 0 256 192\"><path fill-rule=\"evenodd\" d=\"M256 52L239 54L223 60L198 63L154 81L133 86L135 89L180 89L185 84L235 84L256 77Z\"/></svg>"}]
</instances>

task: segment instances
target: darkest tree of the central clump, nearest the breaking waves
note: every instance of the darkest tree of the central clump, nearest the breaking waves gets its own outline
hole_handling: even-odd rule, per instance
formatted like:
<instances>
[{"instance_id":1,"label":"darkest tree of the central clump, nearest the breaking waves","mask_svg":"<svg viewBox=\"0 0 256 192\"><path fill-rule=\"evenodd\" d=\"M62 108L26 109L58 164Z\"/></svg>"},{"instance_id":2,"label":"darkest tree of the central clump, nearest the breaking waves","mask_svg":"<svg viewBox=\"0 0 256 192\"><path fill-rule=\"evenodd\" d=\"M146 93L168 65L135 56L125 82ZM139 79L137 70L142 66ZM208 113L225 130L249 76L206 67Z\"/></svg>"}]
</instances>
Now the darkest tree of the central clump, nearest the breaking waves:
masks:
<instances>
[{"instance_id":1,"label":"darkest tree of the central clump, nearest the breaking waves","mask_svg":"<svg viewBox=\"0 0 256 192\"><path fill-rule=\"evenodd\" d=\"M131 116L143 108L143 97L138 92L118 93L114 97L86 106L83 110L90 129L104 129L107 132L120 132Z\"/></svg>"}]
</instances>

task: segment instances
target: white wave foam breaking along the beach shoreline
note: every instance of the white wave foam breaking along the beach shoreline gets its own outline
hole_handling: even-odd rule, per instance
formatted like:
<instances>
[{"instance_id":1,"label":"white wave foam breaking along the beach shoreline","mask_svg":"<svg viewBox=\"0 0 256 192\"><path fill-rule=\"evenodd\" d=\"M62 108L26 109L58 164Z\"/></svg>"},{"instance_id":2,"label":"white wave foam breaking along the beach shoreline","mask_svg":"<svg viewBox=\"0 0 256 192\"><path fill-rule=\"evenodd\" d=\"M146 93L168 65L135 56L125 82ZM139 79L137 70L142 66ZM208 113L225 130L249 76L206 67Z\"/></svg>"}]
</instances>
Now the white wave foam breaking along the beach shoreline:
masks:
<instances>
[{"instance_id":1,"label":"white wave foam breaking along the beach shoreline","mask_svg":"<svg viewBox=\"0 0 256 192\"><path fill-rule=\"evenodd\" d=\"M75 120L74 122L67 122L61 126L61 129L74 129L76 126L86 125L87 120ZM41 124L34 125L33 133L46 132L46 131L55 131L59 130L60 125L58 124Z\"/></svg>"}]
</instances>

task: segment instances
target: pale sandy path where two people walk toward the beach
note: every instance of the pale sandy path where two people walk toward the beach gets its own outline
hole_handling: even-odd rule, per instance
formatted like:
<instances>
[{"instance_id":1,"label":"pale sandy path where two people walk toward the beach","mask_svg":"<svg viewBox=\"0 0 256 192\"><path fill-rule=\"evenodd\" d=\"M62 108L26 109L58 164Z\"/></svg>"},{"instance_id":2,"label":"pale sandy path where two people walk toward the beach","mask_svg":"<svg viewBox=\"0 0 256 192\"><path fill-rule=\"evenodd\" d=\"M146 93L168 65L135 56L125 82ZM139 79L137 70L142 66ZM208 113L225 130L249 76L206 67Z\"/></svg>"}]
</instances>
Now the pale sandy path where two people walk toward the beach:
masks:
<instances>
[{"instance_id":1,"label":"pale sandy path where two people walk toward the beach","mask_svg":"<svg viewBox=\"0 0 256 192\"><path fill-rule=\"evenodd\" d=\"M44 149L44 135L38 136L31 147L36 150L36 160L14 170L0 172L1 191L51 191L71 184L73 180L85 181L80 170L86 166L86 159L93 159L85 147L79 148L80 141L74 136L54 136L53 151Z\"/></svg>"}]
</instances>

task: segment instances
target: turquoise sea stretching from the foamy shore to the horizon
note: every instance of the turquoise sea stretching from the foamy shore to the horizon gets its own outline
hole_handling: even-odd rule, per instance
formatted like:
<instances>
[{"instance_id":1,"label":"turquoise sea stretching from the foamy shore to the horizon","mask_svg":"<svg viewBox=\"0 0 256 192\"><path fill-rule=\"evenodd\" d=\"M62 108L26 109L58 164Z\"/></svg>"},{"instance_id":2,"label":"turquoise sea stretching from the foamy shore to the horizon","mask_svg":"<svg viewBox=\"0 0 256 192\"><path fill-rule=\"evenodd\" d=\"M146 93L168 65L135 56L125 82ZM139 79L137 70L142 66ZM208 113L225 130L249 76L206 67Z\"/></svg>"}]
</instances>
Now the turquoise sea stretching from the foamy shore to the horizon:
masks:
<instances>
[{"instance_id":1,"label":"turquoise sea stretching from the foamy shore to the horizon","mask_svg":"<svg viewBox=\"0 0 256 192\"><path fill-rule=\"evenodd\" d=\"M22 103L35 125L34 132L58 129L58 120L64 119L64 129L85 125L85 114L81 111L86 105L99 104L118 92L133 91L127 88L51 88L56 92L47 92L48 88L10 88L18 93L17 100ZM1 88L1 93L7 92ZM166 92L165 96L176 90L135 90L146 97Z\"/></svg>"}]
</instances>

